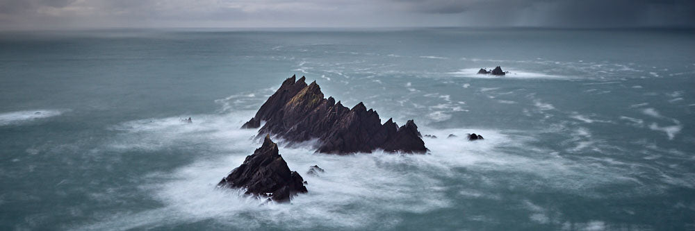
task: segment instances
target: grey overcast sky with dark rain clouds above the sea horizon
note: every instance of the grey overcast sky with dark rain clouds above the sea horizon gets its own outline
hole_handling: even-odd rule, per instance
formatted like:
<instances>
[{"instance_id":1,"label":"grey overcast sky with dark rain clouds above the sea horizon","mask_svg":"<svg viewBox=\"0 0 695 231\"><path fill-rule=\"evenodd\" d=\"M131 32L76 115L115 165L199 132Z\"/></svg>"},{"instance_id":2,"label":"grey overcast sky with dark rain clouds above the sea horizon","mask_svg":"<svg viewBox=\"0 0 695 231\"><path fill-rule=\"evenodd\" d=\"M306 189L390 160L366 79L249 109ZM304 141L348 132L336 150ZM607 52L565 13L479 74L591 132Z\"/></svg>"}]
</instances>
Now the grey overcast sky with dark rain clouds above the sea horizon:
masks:
<instances>
[{"instance_id":1,"label":"grey overcast sky with dark rain clouds above the sea horizon","mask_svg":"<svg viewBox=\"0 0 695 231\"><path fill-rule=\"evenodd\" d=\"M695 26L695 0L0 0L0 28Z\"/></svg>"}]
</instances>

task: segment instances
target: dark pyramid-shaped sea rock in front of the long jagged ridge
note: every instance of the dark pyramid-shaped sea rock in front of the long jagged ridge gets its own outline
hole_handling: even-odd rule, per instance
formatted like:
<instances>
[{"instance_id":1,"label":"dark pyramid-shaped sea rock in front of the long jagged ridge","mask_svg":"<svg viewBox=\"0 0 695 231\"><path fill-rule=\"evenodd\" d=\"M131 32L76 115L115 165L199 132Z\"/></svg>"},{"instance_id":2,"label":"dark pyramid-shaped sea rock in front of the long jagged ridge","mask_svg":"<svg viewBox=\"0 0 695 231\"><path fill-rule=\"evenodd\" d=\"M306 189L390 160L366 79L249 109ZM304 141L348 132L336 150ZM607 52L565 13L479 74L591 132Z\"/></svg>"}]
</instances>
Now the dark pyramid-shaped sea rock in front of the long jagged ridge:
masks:
<instances>
[{"instance_id":1,"label":"dark pyramid-shaped sea rock in front of the long jagged ridge","mask_svg":"<svg viewBox=\"0 0 695 231\"><path fill-rule=\"evenodd\" d=\"M277 202L288 202L290 197L306 193L304 179L290 171L287 162L278 154L277 144L265 136L263 145L249 155L244 163L222 178L218 188L243 188L246 194L268 196Z\"/></svg>"}]
</instances>

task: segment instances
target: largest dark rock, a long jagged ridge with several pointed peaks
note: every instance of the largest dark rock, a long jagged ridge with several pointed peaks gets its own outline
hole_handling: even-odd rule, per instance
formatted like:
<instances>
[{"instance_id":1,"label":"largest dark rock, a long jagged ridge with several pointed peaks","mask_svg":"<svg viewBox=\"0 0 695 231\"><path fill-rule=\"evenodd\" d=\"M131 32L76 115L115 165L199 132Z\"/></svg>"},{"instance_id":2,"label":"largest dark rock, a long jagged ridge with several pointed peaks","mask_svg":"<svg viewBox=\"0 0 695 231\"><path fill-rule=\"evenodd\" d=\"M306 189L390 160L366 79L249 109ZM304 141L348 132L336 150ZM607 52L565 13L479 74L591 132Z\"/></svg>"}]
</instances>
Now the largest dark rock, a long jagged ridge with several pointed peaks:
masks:
<instances>
[{"instance_id":1,"label":"largest dark rock, a long jagged ridge with several pointed peaks","mask_svg":"<svg viewBox=\"0 0 695 231\"><path fill-rule=\"evenodd\" d=\"M288 142L318 139L320 153L370 153L377 148L403 153L425 153L418 126L410 120L400 128L392 119L381 123L375 110L363 103L347 108L333 97L325 99L313 81L304 76L286 79L242 128L259 128L259 135L275 134Z\"/></svg>"}]
</instances>

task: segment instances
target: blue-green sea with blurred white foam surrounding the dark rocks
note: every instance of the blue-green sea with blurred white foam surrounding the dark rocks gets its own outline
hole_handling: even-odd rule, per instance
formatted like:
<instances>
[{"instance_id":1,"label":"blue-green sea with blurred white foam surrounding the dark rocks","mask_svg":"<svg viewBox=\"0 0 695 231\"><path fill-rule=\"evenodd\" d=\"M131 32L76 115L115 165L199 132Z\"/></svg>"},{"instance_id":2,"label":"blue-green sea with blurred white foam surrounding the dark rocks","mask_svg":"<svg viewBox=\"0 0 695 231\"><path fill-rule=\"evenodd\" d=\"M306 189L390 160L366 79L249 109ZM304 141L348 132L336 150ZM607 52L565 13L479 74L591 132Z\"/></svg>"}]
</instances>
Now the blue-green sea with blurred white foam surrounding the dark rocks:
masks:
<instances>
[{"instance_id":1,"label":"blue-green sea with blurred white foam surrounding the dark rocks","mask_svg":"<svg viewBox=\"0 0 695 231\"><path fill-rule=\"evenodd\" d=\"M678 29L0 32L0 230L695 230L694 54ZM293 74L438 138L281 144L288 204L216 190Z\"/></svg>"}]
</instances>

